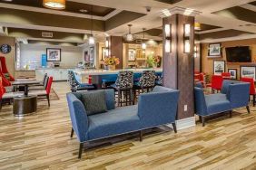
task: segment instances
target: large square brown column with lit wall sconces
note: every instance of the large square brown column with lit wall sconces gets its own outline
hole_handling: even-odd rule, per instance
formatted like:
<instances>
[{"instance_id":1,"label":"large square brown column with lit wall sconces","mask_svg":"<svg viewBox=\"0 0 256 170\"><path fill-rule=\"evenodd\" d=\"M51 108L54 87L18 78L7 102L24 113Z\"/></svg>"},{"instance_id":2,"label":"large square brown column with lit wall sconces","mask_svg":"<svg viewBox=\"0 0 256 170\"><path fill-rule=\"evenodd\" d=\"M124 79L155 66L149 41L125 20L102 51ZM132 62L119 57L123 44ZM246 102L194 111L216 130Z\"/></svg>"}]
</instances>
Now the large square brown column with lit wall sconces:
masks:
<instances>
[{"instance_id":1,"label":"large square brown column with lit wall sconces","mask_svg":"<svg viewBox=\"0 0 256 170\"><path fill-rule=\"evenodd\" d=\"M171 52L165 51L164 25L171 25ZM184 24L191 25L190 52L184 52ZM163 30L163 86L180 90L177 119L194 116L193 101L193 47L194 17L172 14L162 19Z\"/></svg>"}]
</instances>

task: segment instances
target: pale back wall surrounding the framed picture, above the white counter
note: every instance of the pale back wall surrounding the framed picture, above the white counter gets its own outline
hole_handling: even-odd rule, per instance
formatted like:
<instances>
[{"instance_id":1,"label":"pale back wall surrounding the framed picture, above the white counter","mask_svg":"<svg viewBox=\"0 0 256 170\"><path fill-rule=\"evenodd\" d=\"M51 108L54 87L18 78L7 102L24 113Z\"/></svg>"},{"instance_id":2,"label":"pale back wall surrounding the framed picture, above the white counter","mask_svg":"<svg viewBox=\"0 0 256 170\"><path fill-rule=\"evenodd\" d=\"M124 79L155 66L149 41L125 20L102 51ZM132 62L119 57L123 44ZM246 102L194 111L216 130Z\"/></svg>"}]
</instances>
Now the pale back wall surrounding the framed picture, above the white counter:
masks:
<instances>
[{"instance_id":1,"label":"pale back wall surrounding the framed picture, above the white counter","mask_svg":"<svg viewBox=\"0 0 256 170\"><path fill-rule=\"evenodd\" d=\"M57 46L57 45L38 45L38 44L21 44L21 68L26 64L31 69L34 66L41 66L42 54L46 54L46 48L60 48L62 50L61 67L75 67L79 61L82 61L82 47L76 46ZM51 62L47 62L48 65Z\"/></svg>"}]
</instances>

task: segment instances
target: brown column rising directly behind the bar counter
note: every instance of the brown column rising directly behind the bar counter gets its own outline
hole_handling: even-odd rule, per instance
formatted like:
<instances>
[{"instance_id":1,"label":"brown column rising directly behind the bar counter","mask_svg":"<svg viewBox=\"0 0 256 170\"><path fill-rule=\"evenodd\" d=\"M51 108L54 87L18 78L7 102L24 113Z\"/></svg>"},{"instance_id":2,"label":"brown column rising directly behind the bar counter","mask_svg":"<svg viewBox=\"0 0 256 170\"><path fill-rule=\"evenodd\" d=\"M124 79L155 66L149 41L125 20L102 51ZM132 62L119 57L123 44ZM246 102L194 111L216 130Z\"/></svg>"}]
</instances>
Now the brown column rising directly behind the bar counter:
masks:
<instances>
[{"instance_id":1,"label":"brown column rising directly behind the bar counter","mask_svg":"<svg viewBox=\"0 0 256 170\"><path fill-rule=\"evenodd\" d=\"M111 55L119 58L120 64L116 66L116 69L123 69L123 37L111 36L110 37L110 52Z\"/></svg>"}]
</instances>

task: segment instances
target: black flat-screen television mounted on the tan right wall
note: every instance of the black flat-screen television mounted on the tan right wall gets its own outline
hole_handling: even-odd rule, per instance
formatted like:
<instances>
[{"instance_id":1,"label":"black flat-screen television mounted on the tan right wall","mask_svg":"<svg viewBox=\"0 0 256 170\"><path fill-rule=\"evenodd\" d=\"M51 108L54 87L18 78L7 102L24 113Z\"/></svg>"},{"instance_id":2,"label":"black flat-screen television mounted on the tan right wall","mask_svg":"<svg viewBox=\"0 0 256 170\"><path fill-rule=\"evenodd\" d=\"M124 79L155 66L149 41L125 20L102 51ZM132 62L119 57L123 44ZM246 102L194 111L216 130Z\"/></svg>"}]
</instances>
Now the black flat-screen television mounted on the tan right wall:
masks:
<instances>
[{"instance_id":1,"label":"black flat-screen television mounted on the tan right wall","mask_svg":"<svg viewBox=\"0 0 256 170\"><path fill-rule=\"evenodd\" d=\"M228 62L251 62L251 51L249 46L226 48Z\"/></svg>"}]
</instances>

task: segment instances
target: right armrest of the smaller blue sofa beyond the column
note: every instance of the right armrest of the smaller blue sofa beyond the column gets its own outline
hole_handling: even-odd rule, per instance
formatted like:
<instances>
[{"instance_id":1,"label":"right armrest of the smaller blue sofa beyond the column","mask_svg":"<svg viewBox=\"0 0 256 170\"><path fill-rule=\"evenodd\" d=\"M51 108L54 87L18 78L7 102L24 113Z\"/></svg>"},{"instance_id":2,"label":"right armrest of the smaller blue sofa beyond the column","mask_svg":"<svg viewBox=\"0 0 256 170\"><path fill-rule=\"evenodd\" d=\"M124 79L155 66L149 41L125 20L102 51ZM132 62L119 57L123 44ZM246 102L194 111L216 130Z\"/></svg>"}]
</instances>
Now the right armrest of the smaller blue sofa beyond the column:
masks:
<instances>
[{"instance_id":1,"label":"right armrest of the smaller blue sofa beyond the column","mask_svg":"<svg viewBox=\"0 0 256 170\"><path fill-rule=\"evenodd\" d=\"M231 101L231 109L248 106L250 98L250 83L241 82L229 85L227 99Z\"/></svg>"}]
</instances>

